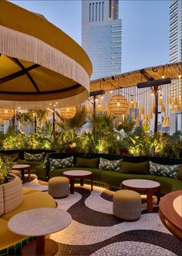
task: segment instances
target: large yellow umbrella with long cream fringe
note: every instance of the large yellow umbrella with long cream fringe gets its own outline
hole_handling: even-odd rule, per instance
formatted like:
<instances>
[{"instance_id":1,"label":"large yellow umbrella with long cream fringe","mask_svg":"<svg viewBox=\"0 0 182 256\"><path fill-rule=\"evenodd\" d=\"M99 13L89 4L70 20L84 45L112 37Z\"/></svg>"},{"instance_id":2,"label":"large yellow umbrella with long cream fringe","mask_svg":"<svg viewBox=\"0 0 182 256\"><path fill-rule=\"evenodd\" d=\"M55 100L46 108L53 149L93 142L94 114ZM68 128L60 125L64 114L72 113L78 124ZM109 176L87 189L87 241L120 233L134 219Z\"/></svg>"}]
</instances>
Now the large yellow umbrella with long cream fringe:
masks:
<instances>
[{"instance_id":1,"label":"large yellow umbrella with long cream fringe","mask_svg":"<svg viewBox=\"0 0 182 256\"><path fill-rule=\"evenodd\" d=\"M42 15L0 1L0 108L78 105L89 97L92 63Z\"/></svg>"}]
</instances>

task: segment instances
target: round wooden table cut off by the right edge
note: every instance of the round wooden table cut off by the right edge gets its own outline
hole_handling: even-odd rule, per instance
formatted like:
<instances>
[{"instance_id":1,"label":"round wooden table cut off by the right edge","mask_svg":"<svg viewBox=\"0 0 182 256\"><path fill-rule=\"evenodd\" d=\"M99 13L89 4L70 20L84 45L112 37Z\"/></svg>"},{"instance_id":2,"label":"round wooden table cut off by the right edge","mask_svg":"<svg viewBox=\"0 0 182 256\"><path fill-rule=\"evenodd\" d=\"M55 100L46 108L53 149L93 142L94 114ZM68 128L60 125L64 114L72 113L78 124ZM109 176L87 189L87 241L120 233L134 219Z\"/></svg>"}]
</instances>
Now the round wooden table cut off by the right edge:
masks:
<instances>
[{"instance_id":1,"label":"round wooden table cut off by the right edge","mask_svg":"<svg viewBox=\"0 0 182 256\"><path fill-rule=\"evenodd\" d=\"M159 215L164 226L182 240L182 189L161 198Z\"/></svg>"}]
</instances>

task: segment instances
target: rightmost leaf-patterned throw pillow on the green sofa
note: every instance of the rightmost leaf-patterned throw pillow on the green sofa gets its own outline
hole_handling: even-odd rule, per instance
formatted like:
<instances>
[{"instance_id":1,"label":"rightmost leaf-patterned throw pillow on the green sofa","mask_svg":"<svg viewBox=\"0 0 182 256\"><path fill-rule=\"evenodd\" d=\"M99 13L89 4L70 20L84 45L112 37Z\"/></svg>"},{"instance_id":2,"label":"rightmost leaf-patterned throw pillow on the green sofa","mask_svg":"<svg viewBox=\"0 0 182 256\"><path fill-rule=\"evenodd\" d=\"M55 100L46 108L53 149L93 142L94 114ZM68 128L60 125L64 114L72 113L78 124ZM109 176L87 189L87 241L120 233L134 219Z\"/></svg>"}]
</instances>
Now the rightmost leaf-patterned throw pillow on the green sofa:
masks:
<instances>
[{"instance_id":1,"label":"rightmost leaf-patterned throw pillow on the green sofa","mask_svg":"<svg viewBox=\"0 0 182 256\"><path fill-rule=\"evenodd\" d=\"M168 176L174 179L177 179L177 172L180 168L180 165L160 165L156 162L151 162L149 164L150 174L157 176Z\"/></svg>"}]
</instances>

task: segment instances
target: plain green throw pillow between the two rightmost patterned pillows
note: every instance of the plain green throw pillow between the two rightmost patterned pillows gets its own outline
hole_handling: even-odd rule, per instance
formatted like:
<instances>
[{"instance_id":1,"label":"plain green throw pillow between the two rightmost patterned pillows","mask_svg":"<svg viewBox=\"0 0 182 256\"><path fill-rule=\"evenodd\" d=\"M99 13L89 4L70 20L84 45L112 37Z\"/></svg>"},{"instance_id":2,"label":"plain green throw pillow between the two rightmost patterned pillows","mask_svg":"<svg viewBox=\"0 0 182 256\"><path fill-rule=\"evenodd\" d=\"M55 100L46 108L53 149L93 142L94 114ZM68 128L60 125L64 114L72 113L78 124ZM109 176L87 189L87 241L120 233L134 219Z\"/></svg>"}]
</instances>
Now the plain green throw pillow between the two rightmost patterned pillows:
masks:
<instances>
[{"instance_id":1,"label":"plain green throw pillow between the two rightmost patterned pillows","mask_svg":"<svg viewBox=\"0 0 182 256\"><path fill-rule=\"evenodd\" d=\"M130 174L149 174L149 161L121 162L120 172Z\"/></svg>"}]
</instances>

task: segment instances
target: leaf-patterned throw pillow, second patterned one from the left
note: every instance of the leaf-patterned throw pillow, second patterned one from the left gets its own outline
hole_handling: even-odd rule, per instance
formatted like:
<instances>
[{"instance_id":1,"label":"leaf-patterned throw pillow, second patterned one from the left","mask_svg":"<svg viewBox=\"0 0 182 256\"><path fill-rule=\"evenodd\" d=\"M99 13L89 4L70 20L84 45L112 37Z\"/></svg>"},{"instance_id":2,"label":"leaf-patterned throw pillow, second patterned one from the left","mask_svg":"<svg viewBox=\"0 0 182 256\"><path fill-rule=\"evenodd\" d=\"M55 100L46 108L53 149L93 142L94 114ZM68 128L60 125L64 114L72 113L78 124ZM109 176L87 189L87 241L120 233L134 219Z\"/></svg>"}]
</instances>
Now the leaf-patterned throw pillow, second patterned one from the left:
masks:
<instances>
[{"instance_id":1,"label":"leaf-patterned throw pillow, second patterned one from the left","mask_svg":"<svg viewBox=\"0 0 182 256\"><path fill-rule=\"evenodd\" d=\"M57 168L68 168L74 165L73 156L66 159L49 159L49 163L51 172Z\"/></svg>"}]
</instances>

